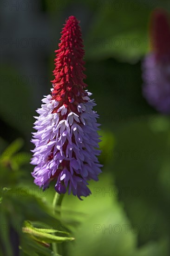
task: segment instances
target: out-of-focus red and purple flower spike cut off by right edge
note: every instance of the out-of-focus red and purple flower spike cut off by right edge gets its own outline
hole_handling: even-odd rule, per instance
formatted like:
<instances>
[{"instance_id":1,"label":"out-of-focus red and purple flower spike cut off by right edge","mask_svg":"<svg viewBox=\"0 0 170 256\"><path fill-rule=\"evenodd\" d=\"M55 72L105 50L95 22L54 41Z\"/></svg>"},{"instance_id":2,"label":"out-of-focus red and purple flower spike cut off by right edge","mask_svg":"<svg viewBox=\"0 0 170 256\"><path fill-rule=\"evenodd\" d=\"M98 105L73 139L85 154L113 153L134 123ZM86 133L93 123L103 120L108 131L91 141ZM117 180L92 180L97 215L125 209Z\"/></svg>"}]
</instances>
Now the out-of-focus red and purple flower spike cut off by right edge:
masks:
<instances>
[{"instance_id":1,"label":"out-of-focus red and purple flower spike cut off by right edge","mask_svg":"<svg viewBox=\"0 0 170 256\"><path fill-rule=\"evenodd\" d=\"M170 113L170 23L157 9L150 19L151 52L143 62L143 94L158 111Z\"/></svg>"}]
</instances>

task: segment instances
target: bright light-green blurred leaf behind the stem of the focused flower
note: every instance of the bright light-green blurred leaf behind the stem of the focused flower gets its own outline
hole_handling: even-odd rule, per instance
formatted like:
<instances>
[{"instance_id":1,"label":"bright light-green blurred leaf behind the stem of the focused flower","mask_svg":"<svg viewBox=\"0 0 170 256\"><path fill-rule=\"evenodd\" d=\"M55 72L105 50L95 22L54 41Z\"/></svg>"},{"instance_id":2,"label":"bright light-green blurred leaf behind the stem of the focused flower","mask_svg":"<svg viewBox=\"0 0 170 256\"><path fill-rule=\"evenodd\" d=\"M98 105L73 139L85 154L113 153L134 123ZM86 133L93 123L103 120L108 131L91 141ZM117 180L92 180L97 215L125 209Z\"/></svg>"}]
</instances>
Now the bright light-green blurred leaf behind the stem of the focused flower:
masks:
<instances>
[{"instance_id":1,"label":"bright light-green blurred leaf behind the stem of the focused flower","mask_svg":"<svg viewBox=\"0 0 170 256\"><path fill-rule=\"evenodd\" d=\"M72 207L86 214L75 232L75 243L68 244L69 255L130 256L136 248L137 236L131 232L131 223L114 196L115 186L106 168L98 182L90 182L89 188L92 195L83 198L83 202L73 196L65 197L68 209ZM128 235L124 225L130 225Z\"/></svg>"}]
</instances>

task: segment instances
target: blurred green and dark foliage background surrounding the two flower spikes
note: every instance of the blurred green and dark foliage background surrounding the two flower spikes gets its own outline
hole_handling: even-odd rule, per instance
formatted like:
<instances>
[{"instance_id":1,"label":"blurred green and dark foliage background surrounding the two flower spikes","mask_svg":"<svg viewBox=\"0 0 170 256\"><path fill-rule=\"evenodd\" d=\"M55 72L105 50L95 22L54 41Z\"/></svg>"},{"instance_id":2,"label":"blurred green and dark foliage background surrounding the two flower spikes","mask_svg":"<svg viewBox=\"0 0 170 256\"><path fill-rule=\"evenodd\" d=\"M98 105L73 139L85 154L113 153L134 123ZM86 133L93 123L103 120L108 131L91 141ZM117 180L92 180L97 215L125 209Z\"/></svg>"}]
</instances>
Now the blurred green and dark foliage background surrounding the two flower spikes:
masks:
<instances>
[{"instance_id":1,"label":"blurred green and dark foliage background surrounding the two flower spikes","mask_svg":"<svg viewBox=\"0 0 170 256\"><path fill-rule=\"evenodd\" d=\"M169 255L169 119L142 94L150 13L168 0L1 1L1 255L52 255L22 233L24 221L55 225L54 189L33 184L33 115L50 92L65 19L80 20L85 74L100 115L104 165L92 195L66 195L62 216L75 241L65 256ZM154 46L152 46L154 47Z\"/></svg>"}]
</instances>

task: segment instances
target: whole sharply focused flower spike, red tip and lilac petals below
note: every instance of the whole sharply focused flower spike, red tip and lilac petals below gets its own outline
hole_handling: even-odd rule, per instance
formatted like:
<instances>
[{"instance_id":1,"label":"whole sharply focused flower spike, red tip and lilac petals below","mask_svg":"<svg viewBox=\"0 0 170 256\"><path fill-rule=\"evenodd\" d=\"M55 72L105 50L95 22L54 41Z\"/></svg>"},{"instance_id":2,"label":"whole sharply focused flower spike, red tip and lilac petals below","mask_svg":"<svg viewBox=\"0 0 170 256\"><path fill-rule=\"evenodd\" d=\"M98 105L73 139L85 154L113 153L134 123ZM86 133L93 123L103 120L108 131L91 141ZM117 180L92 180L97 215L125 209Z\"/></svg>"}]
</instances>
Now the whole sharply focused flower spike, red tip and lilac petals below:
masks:
<instances>
[{"instance_id":1,"label":"whole sharply focused flower spike, red tip and lilac petals below","mask_svg":"<svg viewBox=\"0 0 170 256\"><path fill-rule=\"evenodd\" d=\"M98 180L101 164L97 133L96 104L84 90L84 50L78 20L71 16L62 30L56 51L52 93L45 96L35 117L32 142L32 173L35 184L46 189L55 181L55 190L64 194L87 196L88 180ZM81 198L80 198L81 199Z\"/></svg>"}]
</instances>

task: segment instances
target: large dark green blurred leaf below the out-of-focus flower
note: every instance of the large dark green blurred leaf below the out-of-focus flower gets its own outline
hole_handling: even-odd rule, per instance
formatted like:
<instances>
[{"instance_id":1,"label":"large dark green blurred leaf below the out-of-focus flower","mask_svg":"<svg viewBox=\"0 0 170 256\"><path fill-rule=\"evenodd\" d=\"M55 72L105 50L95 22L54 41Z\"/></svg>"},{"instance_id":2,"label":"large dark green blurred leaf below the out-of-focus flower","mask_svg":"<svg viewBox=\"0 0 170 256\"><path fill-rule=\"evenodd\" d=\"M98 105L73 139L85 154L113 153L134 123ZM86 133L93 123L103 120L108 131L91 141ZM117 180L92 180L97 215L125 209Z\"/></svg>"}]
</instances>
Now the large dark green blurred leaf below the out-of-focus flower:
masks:
<instances>
[{"instance_id":1,"label":"large dark green blurred leaf below the out-of-focus flower","mask_svg":"<svg viewBox=\"0 0 170 256\"><path fill-rule=\"evenodd\" d=\"M113 159L113 175L129 219L141 227L140 243L169 235L168 136L159 116L153 123L131 122L117 132L115 150L121 157Z\"/></svg>"}]
</instances>

